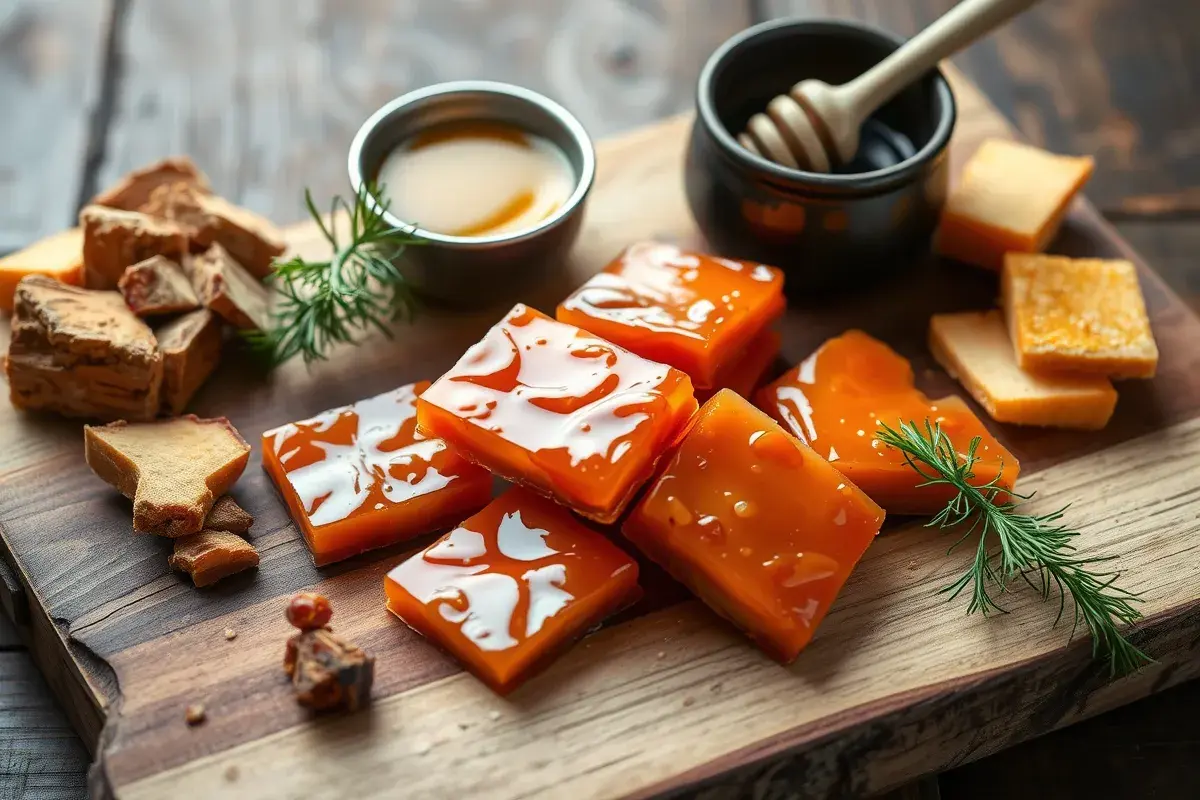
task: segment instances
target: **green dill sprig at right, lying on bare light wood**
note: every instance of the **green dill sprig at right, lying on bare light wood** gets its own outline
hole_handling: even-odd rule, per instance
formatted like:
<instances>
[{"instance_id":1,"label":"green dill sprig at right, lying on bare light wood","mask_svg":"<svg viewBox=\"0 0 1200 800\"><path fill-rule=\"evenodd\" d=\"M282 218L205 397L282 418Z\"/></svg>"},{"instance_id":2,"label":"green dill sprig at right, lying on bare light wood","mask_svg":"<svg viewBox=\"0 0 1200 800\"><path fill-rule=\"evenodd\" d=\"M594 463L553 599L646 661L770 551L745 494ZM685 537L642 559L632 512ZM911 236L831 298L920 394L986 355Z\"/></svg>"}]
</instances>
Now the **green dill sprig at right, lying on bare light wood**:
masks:
<instances>
[{"instance_id":1,"label":"green dill sprig at right, lying on bare light wood","mask_svg":"<svg viewBox=\"0 0 1200 800\"><path fill-rule=\"evenodd\" d=\"M895 447L905 462L924 479L920 486L949 486L954 498L932 519L931 528L962 530L949 552L978 535L971 566L958 581L942 589L958 597L970 590L967 613L1004 612L992 591L1008 591L1018 578L1037 590L1043 600L1058 595L1058 615L1063 618L1067 596L1074 607L1072 636L1080 622L1092 633L1092 655L1105 656L1112 674L1130 673L1151 661L1150 656L1122 636L1120 625L1141 619L1134 607L1138 595L1116 585L1118 572L1094 571L1115 557L1082 558L1076 555L1078 530L1061 523L1067 506L1044 515L1022 513L1020 509L1033 494L1018 494L1000 485L1000 475L974 485L976 455L980 439L971 440L965 455L958 452L940 425L925 420L925 429L916 422L900 422L896 431L881 425L876 439Z\"/></svg>"}]
</instances>

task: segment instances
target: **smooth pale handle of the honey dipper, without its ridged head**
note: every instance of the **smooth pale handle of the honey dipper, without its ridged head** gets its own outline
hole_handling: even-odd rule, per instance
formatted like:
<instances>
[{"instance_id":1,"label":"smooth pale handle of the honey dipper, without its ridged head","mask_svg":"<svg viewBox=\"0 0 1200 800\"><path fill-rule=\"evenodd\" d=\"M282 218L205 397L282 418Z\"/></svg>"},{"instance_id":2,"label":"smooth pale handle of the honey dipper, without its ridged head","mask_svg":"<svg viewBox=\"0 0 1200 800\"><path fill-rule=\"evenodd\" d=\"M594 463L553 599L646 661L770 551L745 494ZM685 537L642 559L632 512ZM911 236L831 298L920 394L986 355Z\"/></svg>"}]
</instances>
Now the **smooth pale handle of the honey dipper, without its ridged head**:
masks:
<instances>
[{"instance_id":1,"label":"smooth pale handle of the honey dipper, without its ridged head","mask_svg":"<svg viewBox=\"0 0 1200 800\"><path fill-rule=\"evenodd\" d=\"M841 86L842 108L860 125L880 106L942 59L990 32L1038 0L962 0L900 49Z\"/></svg>"}]
</instances>

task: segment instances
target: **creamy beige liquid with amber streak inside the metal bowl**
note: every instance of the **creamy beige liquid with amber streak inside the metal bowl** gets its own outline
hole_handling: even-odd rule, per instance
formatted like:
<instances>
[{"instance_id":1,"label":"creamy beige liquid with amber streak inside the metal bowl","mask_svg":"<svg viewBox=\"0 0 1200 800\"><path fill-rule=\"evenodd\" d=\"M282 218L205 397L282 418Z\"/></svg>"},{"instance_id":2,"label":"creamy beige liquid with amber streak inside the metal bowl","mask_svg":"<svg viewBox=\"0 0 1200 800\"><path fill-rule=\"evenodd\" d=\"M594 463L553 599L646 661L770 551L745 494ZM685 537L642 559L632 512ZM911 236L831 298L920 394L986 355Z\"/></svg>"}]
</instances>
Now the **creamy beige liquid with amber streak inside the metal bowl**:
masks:
<instances>
[{"instance_id":1,"label":"creamy beige liquid with amber streak inside the metal bowl","mask_svg":"<svg viewBox=\"0 0 1200 800\"><path fill-rule=\"evenodd\" d=\"M406 222L451 236L493 236L553 216L576 175L545 137L505 122L449 122L402 142L377 182Z\"/></svg>"}]
</instances>

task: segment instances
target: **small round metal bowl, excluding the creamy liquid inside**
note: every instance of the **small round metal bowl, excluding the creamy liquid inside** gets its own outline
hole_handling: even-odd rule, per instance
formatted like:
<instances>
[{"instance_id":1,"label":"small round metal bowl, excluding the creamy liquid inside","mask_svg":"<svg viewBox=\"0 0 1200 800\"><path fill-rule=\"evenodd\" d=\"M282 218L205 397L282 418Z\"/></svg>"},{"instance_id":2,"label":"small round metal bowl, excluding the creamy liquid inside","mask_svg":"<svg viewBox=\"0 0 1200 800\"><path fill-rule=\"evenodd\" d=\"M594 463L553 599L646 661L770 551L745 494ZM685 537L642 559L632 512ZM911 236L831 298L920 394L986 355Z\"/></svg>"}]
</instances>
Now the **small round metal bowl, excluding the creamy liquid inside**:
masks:
<instances>
[{"instance_id":1,"label":"small round metal bowl, excluding the creamy liquid inside","mask_svg":"<svg viewBox=\"0 0 1200 800\"><path fill-rule=\"evenodd\" d=\"M466 121L506 122L545 137L562 149L575 173L575 191L563 206L524 230L450 236L384 213L388 222L413 228L427 242L407 248L397 261L419 294L445 305L480 307L499 303L565 266L595 178L595 149L580 121L548 97L504 83L456 80L418 89L372 114L350 144L350 186L360 192L372 182L384 158L406 139Z\"/></svg>"}]
</instances>

